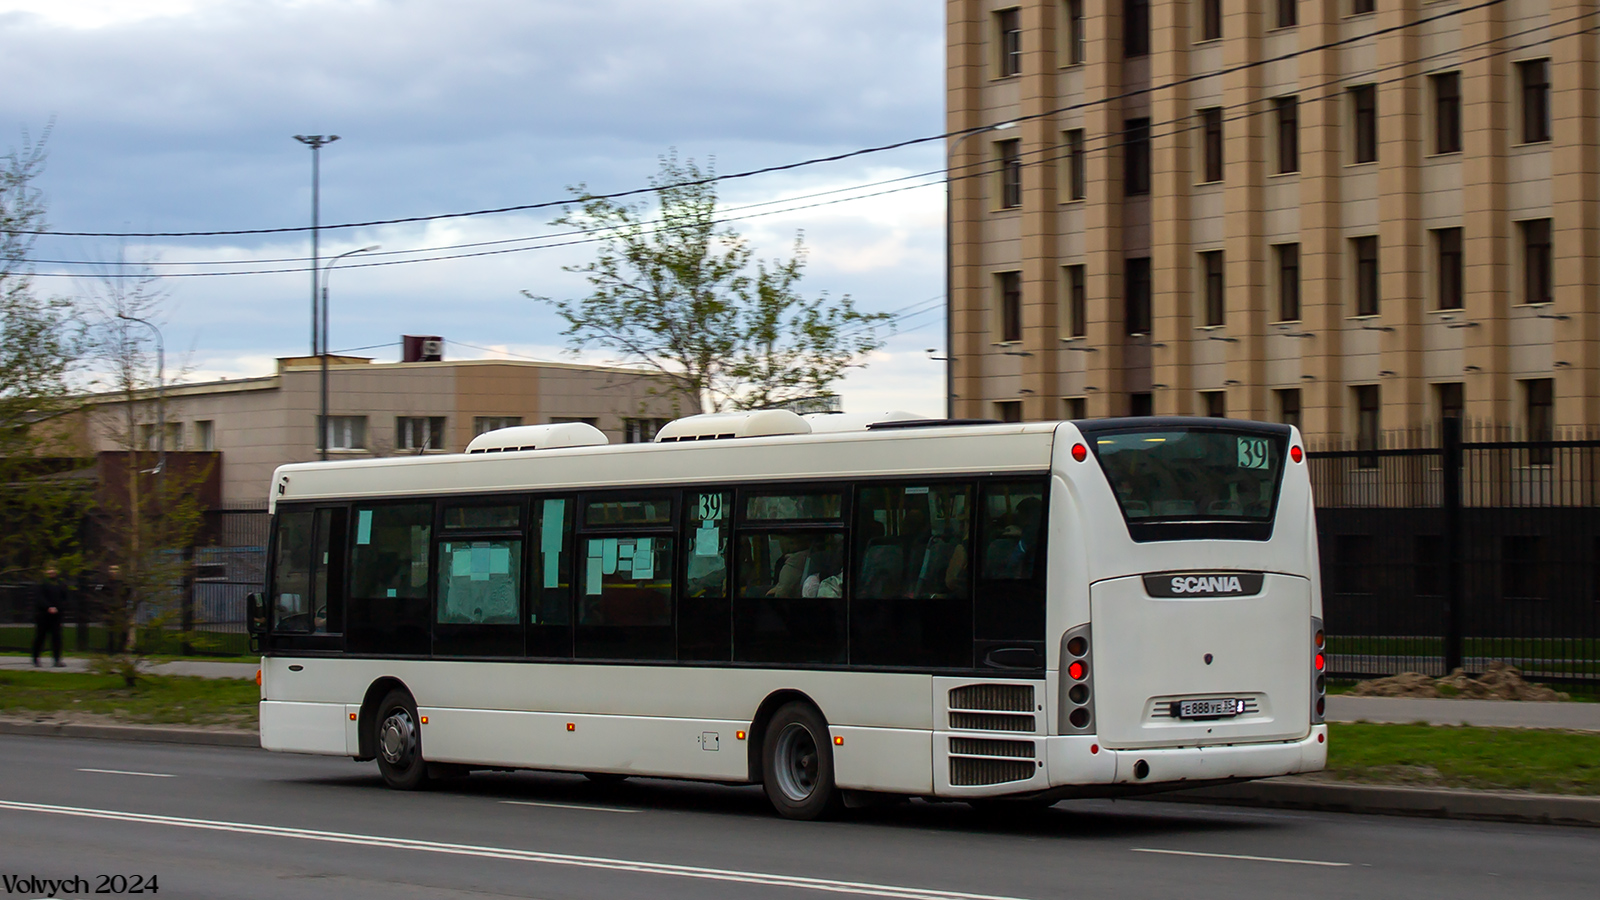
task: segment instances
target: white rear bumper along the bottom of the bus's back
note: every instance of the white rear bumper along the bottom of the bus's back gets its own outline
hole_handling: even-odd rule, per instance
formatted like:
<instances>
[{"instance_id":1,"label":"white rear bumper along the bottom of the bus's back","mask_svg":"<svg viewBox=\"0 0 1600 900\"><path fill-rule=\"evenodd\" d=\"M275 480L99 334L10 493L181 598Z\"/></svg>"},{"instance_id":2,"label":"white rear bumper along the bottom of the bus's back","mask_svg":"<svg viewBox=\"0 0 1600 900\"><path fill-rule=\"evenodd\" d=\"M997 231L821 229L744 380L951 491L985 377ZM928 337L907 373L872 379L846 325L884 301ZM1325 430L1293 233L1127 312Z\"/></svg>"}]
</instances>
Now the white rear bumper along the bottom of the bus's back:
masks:
<instances>
[{"instance_id":1,"label":"white rear bumper along the bottom of the bus's back","mask_svg":"<svg viewBox=\"0 0 1600 900\"><path fill-rule=\"evenodd\" d=\"M1053 788L1163 783L1176 788L1181 781L1317 772L1328 761L1328 725L1312 725L1304 738L1278 743L1107 749L1098 746L1093 735L1062 735L1045 738L1045 745Z\"/></svg>"}]
</instances>

